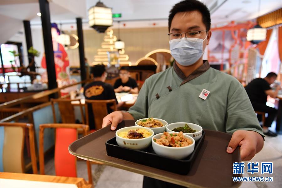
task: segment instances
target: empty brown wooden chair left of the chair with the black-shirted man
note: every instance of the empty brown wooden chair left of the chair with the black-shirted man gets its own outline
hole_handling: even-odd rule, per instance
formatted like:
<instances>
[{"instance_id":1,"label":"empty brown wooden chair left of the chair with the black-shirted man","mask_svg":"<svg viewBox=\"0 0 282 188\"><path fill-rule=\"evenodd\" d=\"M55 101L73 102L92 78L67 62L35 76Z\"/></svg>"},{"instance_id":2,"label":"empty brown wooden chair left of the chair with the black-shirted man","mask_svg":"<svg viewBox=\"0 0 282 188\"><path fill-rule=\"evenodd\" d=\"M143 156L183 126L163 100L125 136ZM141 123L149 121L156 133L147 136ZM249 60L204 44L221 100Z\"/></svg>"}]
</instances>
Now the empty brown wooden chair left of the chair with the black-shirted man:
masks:
<instances>
[{"instance_id":1,"label":"empty brown wooden chair left of the chair with the black-shirted man","mask_svg":"<svg viewBox=\"0 0 282 188\"><path fill-rule=\"evenodd\" d=\"M54 103L58 103L62 123L76 123L74 105L71 104L71 102L73 102L73 101L76 101L76 102L79 103L82 124L85 124L80 99L51 99L54 123L57 123Z\"/></svg>"}]
</instances>

